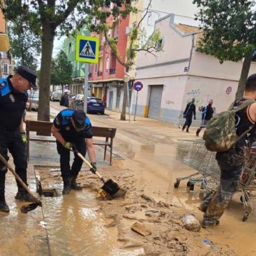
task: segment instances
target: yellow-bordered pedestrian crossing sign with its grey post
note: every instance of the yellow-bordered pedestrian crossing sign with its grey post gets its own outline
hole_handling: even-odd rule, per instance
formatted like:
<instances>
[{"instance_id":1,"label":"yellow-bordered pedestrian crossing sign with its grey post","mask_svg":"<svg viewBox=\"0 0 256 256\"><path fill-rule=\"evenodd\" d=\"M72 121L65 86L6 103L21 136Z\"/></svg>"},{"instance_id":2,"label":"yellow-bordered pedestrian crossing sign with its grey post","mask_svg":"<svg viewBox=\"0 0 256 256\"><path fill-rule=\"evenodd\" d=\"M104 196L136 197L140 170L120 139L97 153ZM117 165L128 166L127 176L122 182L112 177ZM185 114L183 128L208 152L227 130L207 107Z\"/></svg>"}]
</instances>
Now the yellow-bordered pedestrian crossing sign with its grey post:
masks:
<instances>
[{"instance_id":1,"label":"yellow-bordered pedestrian crossing sign with its grey post","mask_svg":"<svg viewBox=\"0 0 256 256\"><path fill-rule=\"evenodd\" d=\"M97 63L99 57L99 38L92 36L76 36L76 61L84 63L84 95L83 111L87 113L87 96L88 96L88 63Z\"/></svg>"}]
</instances>

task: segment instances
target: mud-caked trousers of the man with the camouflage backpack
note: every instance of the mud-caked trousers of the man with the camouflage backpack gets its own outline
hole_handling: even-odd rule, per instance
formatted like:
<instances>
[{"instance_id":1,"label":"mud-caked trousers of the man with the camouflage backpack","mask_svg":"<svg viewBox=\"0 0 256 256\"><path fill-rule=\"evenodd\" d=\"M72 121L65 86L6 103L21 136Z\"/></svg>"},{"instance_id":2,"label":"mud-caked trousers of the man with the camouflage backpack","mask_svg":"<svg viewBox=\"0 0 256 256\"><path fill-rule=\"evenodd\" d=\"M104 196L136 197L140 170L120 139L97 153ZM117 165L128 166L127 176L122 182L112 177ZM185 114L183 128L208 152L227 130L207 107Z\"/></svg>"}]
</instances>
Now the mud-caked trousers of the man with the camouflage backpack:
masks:
<instances>
[{"instance_id":1,"label":"mud-caked trousers of the man with the camouflage backpack","mask_svg":"<svg viewBox=\"0 0 256 256\"><path fill-rule=\"evenodd\" d=\"M204 214L204 220L216 221L221 218L225 208L236 192L243 165L231 166L226 159L217 159L221 169L220 186L215 194L206 198L203 202L207 206Z\"/></svg>"}]
</instances>

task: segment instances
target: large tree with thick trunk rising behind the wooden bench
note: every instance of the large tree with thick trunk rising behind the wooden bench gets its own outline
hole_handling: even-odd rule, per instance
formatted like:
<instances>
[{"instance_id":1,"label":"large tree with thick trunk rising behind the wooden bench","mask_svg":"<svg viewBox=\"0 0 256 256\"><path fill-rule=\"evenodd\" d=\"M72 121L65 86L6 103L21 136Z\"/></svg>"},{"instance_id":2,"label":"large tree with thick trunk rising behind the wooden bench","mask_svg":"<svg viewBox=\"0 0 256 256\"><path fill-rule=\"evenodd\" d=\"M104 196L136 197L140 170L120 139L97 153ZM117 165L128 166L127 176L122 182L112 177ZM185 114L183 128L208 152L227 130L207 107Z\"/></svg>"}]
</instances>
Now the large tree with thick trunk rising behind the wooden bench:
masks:
<instances>
[{"instance_id":1,"label":"large tree with thick trunk rising behind the wooden bench","mask_svg":"<svg viewBox=\"0 0 256 256\"><path fill-rule=\"evenodd\" d=\"M110 2L123 4L109 11L108 15L125 17L131 9L131 0L6 0L0 1L0 8L7 20L19 23L24 20L31 31L42 38L40 65L40 93L38 120L50 120L50 73L54 36L69 34L73 28L84 24L86 15L97 14L100 8Z\"/></svg>"}]
</instances>

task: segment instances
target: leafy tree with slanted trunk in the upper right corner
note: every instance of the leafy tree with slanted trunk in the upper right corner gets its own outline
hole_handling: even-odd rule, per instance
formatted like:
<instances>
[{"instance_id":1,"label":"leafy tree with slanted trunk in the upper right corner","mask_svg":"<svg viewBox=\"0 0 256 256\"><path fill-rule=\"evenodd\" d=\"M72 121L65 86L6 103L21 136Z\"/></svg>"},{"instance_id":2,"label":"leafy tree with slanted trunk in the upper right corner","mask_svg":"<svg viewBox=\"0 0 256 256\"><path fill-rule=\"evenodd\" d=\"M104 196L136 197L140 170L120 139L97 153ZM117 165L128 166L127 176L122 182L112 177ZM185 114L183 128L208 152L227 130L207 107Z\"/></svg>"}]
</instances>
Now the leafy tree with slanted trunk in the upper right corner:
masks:
<instances>
[{"instance_id":1,"label":"leafy tree with slanted trunk in the upper right corner","mask_svg":"<svg viewBox=\"0 0 256 256\"><path fill-rule=\"evenodd\" d=\"M236 99L243 96L253 51L256 49L256 14L254 1L194 0L200 8L196 19L203 28L198 50L224 60L244 58Z\"/></svg>"}]
</instances>

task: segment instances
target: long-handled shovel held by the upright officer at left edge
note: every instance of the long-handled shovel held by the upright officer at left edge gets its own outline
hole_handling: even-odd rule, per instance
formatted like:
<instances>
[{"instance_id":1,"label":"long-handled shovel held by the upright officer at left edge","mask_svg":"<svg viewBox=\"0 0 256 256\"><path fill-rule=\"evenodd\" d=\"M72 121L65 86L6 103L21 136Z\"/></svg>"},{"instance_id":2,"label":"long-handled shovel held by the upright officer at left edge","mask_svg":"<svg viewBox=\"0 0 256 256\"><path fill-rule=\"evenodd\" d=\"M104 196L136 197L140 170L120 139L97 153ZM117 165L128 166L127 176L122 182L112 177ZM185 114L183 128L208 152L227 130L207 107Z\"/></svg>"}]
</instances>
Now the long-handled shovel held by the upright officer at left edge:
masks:
<instances>
[{"instance_id":1,"label":"long-handled shovel held by the upright officer at left edge","mask_svg":"<svg viewBox=\"0 0 256 256\"><path fill-rule=\"evenodd\" d=\"M28 194L33 198L35 203L26 204L23 205L20 209L23 214L27 214L29 211L34 210L37 206L42 207L42 202L40 199L36 198L33 193L30 191L28 186L23 182L22 179L15 173L14 169L11 167L11 165L5 160L5 158L0 154L0 160L4 163L4 165L11 171L11 173L14 175L16 180L19 182L20 185L23 186L23 188L28 192Z\"/></svg>"}]
</instances>

